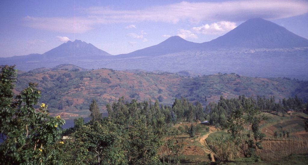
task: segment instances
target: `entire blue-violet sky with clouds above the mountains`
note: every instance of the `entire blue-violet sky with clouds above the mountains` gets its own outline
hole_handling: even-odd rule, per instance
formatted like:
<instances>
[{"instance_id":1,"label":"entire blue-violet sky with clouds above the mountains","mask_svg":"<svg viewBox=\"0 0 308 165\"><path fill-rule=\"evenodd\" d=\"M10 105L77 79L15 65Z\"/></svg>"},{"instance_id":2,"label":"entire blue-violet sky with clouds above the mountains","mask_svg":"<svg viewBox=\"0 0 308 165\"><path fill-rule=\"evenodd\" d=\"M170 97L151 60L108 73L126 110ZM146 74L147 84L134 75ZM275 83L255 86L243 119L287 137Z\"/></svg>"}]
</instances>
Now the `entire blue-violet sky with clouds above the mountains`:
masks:
<instances>
[{"instance_id":1,"label":"entire blue-violet sky with clouds above the mountains","mask_svg":"<svg viewBox=\"0 0 308 165\"><path fill-rule=\"evenodd\" d=\"M250 18L308 38L304 0L1 0L0 57L45 53L79 39L112 55L178 35L211 41Z\"/></svg>"}]
</instances>

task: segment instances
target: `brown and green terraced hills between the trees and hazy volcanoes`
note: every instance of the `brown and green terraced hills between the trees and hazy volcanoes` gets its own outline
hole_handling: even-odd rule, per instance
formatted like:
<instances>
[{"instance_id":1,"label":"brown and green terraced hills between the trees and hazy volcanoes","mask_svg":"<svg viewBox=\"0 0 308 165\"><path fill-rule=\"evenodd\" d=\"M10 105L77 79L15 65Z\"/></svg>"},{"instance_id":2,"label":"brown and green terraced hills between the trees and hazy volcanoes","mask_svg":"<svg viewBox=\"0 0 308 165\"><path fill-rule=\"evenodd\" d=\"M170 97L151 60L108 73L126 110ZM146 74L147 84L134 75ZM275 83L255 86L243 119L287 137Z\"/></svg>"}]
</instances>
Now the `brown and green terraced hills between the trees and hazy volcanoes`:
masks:
<instances>
[{"instance_id":1,"label":"brown and green terraced hills between the trees and hazy volcanoes","mask_svg":"<svg viewBox=\"0 0 308 165\"><path fill-rule=\"evenodd\" d=\"M155 101L172 104L175 98L186 97L203 105L226 98L246 96L275 96L276 99L308 96L307 81L282 78L252 78L236 74L216 74L203 77L181 77L172 73L128 73L112 69L84 70L74 65L60 65L52 69L39 69L18 74L15 92L21 91L28 82L39 83L41 102L49 105L55 115L67 113L67 118L87 116L92 99L100 108L117 100ZM207 100L207 102L205 101Z\"/></svg>"}]
</instances>

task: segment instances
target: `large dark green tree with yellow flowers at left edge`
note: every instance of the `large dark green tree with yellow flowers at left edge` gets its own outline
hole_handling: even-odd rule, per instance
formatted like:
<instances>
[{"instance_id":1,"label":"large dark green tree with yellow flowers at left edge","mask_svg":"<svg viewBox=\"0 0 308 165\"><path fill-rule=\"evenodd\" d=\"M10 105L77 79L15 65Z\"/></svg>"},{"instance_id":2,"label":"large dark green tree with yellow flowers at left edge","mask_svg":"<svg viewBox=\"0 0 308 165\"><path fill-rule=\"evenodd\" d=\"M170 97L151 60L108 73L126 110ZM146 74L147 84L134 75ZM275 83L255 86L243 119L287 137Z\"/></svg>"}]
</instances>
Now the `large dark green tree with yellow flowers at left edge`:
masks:
<instances>
[{"instance_id":1,"label":"large dark green tree with yellow flowers at left edge","mask_svg":"<svg viewBox=\"0 0 308 165\"><path fill-rule=\"evenodd\" d=\"M50 117L47 105L38 106L40 93L37 84L29 83L13 99L12 84L16 81L14 66L5 66L0 72L0 161L7 164L59 164L55 159L61 126L60 116ZM38 107L37 109L34 107Z\"/></svg>"}]
</instances>

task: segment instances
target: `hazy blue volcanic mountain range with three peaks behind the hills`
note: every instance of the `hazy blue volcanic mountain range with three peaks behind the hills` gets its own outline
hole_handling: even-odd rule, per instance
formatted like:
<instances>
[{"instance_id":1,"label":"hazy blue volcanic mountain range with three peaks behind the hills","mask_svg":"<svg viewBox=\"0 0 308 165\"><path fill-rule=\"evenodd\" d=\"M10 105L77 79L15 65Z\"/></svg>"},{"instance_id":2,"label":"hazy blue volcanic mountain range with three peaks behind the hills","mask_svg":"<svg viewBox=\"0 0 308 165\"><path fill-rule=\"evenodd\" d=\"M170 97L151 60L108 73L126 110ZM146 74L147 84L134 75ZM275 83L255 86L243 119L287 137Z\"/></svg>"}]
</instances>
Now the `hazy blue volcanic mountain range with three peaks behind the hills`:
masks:
<instances>
[{"instance_id":1,"label":"hazy blue volcanic mountain range with three peaks behind the hills","mask_svg":"<svg viewBox=\"0 0 308 165\"><path fill-rule=\"evenodd\" d=\"M43 54L0 58L17 69L73 64L87 69L142 69L199 74L239 73L259 77L308 79L308 40L261 18L249 19L209 42L173 36L144 49L112 56L90 43L68 41Z\"/></svg>"}]
</instances>

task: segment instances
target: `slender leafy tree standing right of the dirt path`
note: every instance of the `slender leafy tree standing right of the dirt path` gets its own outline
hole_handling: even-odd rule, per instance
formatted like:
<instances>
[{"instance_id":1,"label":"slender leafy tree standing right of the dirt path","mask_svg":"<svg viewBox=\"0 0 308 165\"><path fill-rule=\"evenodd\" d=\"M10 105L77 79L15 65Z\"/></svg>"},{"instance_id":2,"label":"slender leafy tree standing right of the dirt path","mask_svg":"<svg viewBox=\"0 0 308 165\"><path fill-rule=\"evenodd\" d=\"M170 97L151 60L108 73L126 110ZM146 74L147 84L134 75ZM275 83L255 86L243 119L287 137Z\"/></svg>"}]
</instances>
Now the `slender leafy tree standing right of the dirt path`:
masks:
<instances>
[{"instance_id":1,"label":"slender leafy tree standing right of the dirt path","mask_svg":"<svg viewBox=\"0 0 308 165\"><path fill-rule=\"evenodd\" d=\"M250 105L245 109L233 110L227 120L228 132L239 141L245 157L255 156L257 158L255 151L262 149L261 140L265 135L259 131L261 122L261 118L257 116L259 113L257 108Z\"/></svg>"}]
</instances>

